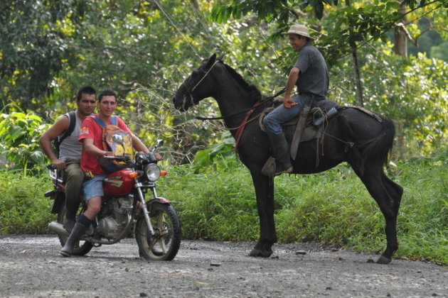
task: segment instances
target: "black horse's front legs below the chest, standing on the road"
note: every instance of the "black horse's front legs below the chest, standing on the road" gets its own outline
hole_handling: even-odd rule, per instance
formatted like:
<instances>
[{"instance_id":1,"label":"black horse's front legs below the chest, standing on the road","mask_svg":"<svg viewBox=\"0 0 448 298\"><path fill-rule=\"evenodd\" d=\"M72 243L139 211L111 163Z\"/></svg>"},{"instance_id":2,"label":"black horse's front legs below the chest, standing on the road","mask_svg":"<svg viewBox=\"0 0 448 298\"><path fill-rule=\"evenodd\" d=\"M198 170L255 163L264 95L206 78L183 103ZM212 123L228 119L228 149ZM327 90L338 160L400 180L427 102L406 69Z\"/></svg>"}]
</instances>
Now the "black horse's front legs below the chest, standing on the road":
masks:
<instances>
[{"instance_id":1,"label":"black horse's front legs below the chest, standing on the road","mask_svg":"<svg viewBox=\"0 0 448 298\"><path fill-rule=\"evenodd\" d=\"M250 170L250 175L257 196L260 239L249 255L267 258L272 255L272 245L277 242L274 223L274 180L262 175L260 170Z\"/></svg>"}]
</instances>

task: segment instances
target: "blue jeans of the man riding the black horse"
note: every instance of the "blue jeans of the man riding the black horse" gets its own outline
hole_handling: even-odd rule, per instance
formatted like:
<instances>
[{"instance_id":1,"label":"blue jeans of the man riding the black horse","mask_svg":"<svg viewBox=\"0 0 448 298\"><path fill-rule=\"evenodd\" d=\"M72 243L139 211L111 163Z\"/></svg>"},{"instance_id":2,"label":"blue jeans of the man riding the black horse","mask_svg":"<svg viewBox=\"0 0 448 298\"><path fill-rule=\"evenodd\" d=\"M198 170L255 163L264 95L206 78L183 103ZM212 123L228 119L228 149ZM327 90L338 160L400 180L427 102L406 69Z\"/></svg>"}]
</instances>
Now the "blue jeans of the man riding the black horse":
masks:
<instances>
[{"instance_id":1,"label":"blue jeans of the man riding the black horse","mask_svg":"<svg viewBox=\"0 0 448 298\"><path fill-rule=\"evenodd\" d=\"M282 123L285 123L292 118L299 116L302 109L304 109L305 104L311 103L311 97L305 97L301 95L294 96L292 100L296 101L298 104L290 108L286 108L283 104L277 106L274 111L267 114L263 119L263 125L268 133L274 135L279 135L283 133Z\"/></svg>"}]
</instances>

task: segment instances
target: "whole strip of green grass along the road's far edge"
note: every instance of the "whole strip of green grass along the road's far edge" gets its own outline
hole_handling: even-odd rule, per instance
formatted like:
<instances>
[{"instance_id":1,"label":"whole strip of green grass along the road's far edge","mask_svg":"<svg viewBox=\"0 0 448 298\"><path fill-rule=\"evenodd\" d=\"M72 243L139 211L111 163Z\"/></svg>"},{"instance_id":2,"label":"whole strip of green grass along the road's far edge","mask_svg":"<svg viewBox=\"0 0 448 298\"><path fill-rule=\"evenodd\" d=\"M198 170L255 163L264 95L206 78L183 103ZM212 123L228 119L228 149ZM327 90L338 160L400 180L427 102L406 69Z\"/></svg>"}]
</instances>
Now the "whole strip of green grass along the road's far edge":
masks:
<instances>
[{"instance_id":1,"label":"whole strip of green grass along the road's far edge","mask_svg":"<svg viewBox=\"0 0 448 298\"><path fill-rule=\"evenodd\" d=\"M396 255L448 263L447 152L410 158L388 168L402 185ZM159 195L173 202L184 238L255 241L260 230L249 172L225 159L198 169L168 167ZM0 233L46 233L53 220L43 192L48 178L0 172ZM385 248L383 214L346 165L316 175L275 178L275 221L280 243L318 241L358 251Z\"/></svg>"}]
</instances>

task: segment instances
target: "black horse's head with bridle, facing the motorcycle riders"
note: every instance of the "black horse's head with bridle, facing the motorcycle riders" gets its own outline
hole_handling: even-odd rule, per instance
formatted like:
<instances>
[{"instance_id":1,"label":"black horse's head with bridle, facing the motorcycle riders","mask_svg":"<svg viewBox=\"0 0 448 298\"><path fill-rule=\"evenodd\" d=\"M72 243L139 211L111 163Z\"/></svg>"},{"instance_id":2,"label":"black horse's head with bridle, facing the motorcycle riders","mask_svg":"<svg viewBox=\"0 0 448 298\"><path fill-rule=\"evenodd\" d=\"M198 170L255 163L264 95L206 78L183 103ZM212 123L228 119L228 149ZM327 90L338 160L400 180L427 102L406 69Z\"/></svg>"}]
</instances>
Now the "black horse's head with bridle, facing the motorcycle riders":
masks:
<instances>
[{"instance_id":1,"label":"black horse's head with bridle, facing the motorcycle riders","mask_svg":"<svg viewBox=\"0 0 448 298\"><path fill-rule=\"evenodd\" d=\"M213 54L208 60L205 60L200 67L194 70L189 77L183 81L174 94L174 106L180 111L187 111L190 106L198 104L199 101L210 96L208 84L204 84L216 63L222 61L222 56L216 58ZM208 87L208 88L204 88Z\"/></svg>"}]
</instances>

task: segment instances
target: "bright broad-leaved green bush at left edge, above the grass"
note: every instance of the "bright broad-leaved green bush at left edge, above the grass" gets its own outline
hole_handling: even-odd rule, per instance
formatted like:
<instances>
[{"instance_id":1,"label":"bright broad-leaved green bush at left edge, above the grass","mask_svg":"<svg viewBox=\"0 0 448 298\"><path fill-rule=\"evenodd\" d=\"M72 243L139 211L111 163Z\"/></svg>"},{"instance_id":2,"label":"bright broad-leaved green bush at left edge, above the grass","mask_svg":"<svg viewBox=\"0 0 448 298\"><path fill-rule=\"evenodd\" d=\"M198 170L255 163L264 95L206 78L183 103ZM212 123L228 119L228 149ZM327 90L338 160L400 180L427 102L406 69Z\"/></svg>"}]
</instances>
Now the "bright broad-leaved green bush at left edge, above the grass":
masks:
<instances>
[{"instance_id":1,"label":"bright broad-leaved green bush at left edge, above the grass","mask_svg":"<svg viewBox=\"0 0 448 298\"><path fill-rule=\"evenodd\" d=\"M0 152L10 161L4 167L39 170L45 161L38 139L48 129L42 118L33 114L13 112L0 114Z\"/></svg>"}]
</instances>

